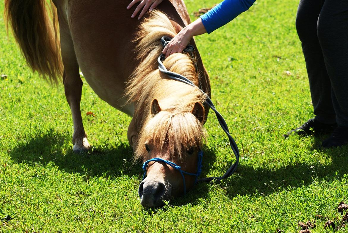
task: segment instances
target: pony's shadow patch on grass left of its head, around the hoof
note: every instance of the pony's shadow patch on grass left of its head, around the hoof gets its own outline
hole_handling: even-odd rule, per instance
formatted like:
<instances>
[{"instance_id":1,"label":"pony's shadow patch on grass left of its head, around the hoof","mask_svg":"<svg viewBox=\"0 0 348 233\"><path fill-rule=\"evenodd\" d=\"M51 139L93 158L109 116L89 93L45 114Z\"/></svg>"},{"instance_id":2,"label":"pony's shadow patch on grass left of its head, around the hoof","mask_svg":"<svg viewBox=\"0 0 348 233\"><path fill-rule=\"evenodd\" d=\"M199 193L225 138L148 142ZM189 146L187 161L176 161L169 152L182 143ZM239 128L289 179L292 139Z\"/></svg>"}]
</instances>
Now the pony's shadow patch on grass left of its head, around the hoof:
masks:
<instances>
[{"instance_id":1,"label":"pony's shadow patch on grass left of its head, around the hoof","mask_svg":"<svg viewBox=\"0 0 348 233\"><path fill-rule=\"evenodd\" d=\"M141 167L131 166L133 151L128 143L106 145L94 148L92 152L74 153L71 148L66 148L68 138L70 141L68 134L51 129L30 137L11 149L9 155L14 161L42 166L53 163L59 170L80 173L86 179L95 176L133 176L142 171Z\"/></svg>"}]
</instances>

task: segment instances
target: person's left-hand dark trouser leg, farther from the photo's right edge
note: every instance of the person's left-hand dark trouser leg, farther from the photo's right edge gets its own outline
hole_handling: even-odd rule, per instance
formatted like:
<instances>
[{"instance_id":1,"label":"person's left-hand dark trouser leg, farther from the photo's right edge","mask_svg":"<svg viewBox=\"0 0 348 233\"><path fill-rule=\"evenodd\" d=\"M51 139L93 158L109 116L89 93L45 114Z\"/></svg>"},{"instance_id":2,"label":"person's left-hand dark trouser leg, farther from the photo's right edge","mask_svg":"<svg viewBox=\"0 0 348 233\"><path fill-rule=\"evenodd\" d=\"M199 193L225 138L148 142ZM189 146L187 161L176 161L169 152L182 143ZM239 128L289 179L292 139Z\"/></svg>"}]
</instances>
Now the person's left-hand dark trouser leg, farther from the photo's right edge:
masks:
<instances>
[{"instance_id":1,"label":"person's left-hand dark trouser leg, farther from the photo's right edge","mask_svg":"<svg viewBox=\"0 0 348 233\"><path fill-rule=\"evenodd\" d=\"M324 0L301 0L296 15L296 30L302 42L309 87L318 122L335 123L331 100L331 83L317 37L317 22Z\"/></svg>"}]
</instances>

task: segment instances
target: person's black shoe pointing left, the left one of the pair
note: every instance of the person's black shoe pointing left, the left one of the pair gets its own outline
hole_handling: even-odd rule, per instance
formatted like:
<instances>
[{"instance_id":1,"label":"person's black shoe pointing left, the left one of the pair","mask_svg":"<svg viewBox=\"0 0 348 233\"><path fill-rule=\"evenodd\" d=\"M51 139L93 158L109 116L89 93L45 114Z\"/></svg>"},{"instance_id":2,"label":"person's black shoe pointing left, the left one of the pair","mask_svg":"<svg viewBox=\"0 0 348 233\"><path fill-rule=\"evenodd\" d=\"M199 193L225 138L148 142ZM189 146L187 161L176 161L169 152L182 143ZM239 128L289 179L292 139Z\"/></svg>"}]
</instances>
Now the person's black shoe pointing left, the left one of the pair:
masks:
<instances>
[{"instance_id":1,"label":"person's black shoe pointing left, the left one of the pair","mask_svg":"<svg viewBox=\"0 0 348 233\"><path fill-rule=\"evenodd\" d=\"M331 133L335 127L337 127L337 124L325 124L316 121L314 118L309 119L306 123L301 125L300 127L291 130L284 134L284 137L287 138L290 136L290 134L295 133L298 135L319 135L319 134L326 134Z\"/></svg>"}]
</instances>

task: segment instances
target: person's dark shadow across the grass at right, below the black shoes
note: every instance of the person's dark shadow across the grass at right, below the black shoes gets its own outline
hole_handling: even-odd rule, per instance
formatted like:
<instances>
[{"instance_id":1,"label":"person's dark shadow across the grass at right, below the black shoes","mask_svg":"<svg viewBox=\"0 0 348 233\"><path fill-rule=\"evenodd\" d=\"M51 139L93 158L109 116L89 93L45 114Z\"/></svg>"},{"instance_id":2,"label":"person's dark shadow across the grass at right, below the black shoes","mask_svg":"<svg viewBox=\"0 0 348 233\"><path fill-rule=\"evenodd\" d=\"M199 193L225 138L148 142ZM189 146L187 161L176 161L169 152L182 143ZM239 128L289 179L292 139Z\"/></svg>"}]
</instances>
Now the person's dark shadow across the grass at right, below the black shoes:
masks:
<instances>
[{"instance_id":1,"label":"person's dark shadow across the grass at right, below the black shoes","mask_svg":"<svg viewBox=\"0 0 348 233\"><path fill-rule=\"evenodd\" d=\"M309 151L324 150L331 164L323 165L317 162L296 162L294 156L291 165L277 169L255 169L251 165L239 164L235 177L227 184L227 194L230 198L236 195L269 195L284 188L307 186L314 179L342 179L348 174L348 146L323 149L323 138L314 138ZM336 172L338 172L336 174ZM226 184L225 184L226 185Z\"/></svg>"}]
</instances>

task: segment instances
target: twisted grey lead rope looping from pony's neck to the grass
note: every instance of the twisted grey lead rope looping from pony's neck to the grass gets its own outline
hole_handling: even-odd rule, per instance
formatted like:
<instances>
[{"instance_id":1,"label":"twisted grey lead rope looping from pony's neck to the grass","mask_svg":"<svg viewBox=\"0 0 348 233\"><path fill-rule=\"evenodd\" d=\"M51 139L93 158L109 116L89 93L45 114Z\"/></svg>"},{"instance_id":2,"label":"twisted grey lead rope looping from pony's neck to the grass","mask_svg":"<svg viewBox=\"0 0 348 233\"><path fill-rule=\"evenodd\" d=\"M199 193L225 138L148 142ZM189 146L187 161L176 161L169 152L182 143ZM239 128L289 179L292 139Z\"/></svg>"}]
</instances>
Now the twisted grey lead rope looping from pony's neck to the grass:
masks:
<instances>
[{"instance_id":1,"label":"twisted grey lead rope looping from pony's neck to the grass","mask_svg":"<svg viewBox=\"0 0 348 233\"><path fill-rule=\"evenodd\" d=\"M171 40L171 38L169 38L169 37L166 37L166 36L162 37L161 38L161 44L163 45L163 47L165 47L170 40ZM193 58L193 51L194 51L194 47L192 45L188 45L184 49L184 52L188 52L192 56L192 58ZM167 70L167 68L162 63L162 61L164 61L165 59L166 59L166 57L165 57L164 54L161 54L158 57L158 59L157 59L157 61L158 61L158 69L161 72L165 73L169 78L172 78L174 80L181 81L182 83L186 83L188 85L196 87L199 91L201 91L206 96L206 104L215 112L217 121L219 121L221 128L227 134L227 137L228 137L228 139L230 141L230 146L231 146L231 148L232 148L232 150L233 150L233 152L234 152L234 154L236 156L236 162L234 162L234 164L232 164L230 166L230 168L226 171L225 174L223 174L223 176L221 176L221 177L206 177L206 178L198 179L198 181L206 181L206 182L209 182L209 181L212 181L212 180L220 181L222 179L225 179L225 178L231 176L231 174L233 174L236 171L238 163L239 163L239 149L238 149L238 146L237 146L235 140L230 135L230 131L228 130L228 126L227 126L225 120L223 119L221 114L216 110L212 100L209 98L209 96L204 91L202 91L195 84L193 84L188 78L180 75L179 73L175 73L175 72L171 72L171 71Z\"/></svg>"}]
</instances>

